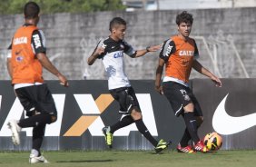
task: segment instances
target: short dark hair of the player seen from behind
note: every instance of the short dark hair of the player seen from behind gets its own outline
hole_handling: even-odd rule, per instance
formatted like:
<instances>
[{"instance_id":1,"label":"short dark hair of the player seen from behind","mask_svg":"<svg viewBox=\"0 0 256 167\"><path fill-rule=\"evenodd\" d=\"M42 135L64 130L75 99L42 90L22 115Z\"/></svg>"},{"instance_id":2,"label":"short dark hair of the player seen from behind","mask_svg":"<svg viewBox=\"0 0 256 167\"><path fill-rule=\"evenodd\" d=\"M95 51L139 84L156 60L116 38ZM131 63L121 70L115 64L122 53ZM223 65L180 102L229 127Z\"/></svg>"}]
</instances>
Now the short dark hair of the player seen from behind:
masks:
<instances>
[{"instance_id":1,"label":"short dark hair of the player seen from behind","mask_svg":"<svg viewBox=\"0 0 256 167\"><path fill-rule=\"evenodd\" d=\"M28 2L25 4L25 7L24 7L25 18L27 19L35 18L39 15L39 13L40 13L40 7L36 3Z\"/></svg>"}]
</instances>

